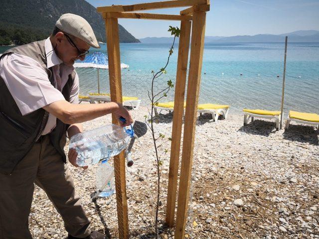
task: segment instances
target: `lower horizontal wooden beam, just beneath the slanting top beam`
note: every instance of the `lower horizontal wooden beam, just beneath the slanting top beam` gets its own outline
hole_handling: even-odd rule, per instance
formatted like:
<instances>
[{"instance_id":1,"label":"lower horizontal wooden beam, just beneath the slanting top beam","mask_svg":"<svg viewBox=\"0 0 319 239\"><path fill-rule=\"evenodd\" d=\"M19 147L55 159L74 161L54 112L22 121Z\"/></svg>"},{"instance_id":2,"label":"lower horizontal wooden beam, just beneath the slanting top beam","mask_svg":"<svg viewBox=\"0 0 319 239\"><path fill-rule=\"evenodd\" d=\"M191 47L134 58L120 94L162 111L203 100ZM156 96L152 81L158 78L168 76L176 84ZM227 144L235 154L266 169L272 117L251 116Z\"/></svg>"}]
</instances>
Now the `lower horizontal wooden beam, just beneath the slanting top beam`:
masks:
<instances>
[{"instance_id":1,"label":"lower horizontal wooden beam, just beneath the slanting top beam","mask_svg":"<svg viewBox=\"0 0 319 239\"><path fill-rule=\"evenodd\" d=\"M191 16L167 15L140 12L103 12L104 18L138 18L138 19L154 19L154 20L191 20Z\"/></svg>"}]
</instances>

